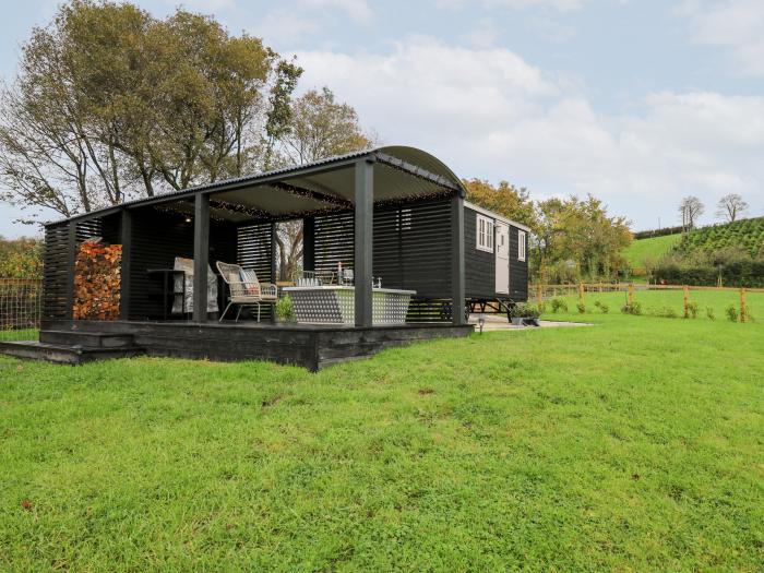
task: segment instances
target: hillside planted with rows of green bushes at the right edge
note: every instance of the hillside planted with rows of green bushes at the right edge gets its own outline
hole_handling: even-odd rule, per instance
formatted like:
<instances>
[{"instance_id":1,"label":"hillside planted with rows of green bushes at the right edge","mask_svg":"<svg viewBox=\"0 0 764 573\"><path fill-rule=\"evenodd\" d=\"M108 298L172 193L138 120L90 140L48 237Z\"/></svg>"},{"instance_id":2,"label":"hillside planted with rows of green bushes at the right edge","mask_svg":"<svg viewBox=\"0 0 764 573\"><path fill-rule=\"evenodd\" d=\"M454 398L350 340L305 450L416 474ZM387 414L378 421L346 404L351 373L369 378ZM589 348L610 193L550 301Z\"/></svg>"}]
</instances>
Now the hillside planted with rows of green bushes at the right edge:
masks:
<instances>
[{"instance_id":1,"label":"hillside planted with rows of green bushes at the right edge","mask_svg":"<svg viewBox=\"0 0 764 573\"><path fill-rule=\"evenodd\" d=\"M764 217L695 229L684 235L676 244L675 250L679 254L690 254L696 251L711 253L729 247L740 247L748 251L751 256L761 253L764 249Z\"/></svg>"}]
</instances>

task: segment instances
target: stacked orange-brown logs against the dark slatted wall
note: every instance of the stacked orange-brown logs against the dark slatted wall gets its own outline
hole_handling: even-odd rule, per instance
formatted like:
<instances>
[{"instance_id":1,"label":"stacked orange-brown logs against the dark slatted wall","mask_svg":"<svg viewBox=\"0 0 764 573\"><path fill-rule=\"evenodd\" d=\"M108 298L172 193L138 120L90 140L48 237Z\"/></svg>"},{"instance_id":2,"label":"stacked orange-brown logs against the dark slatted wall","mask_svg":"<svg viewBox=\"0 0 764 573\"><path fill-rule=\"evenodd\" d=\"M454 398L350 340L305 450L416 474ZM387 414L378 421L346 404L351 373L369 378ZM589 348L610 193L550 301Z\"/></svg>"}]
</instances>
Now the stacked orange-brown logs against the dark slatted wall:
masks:
<instances>
[{"instance_id":1,"label":"stacked orange-brown logs against the dark slatted wall","mask_svg":"<svg viewBox=\"0 0 764 573\"><path fill-rule=\"evenodd\" d=\"M80 243L74 271L74 320L119 319L121 244Z\"/></svg>"}]
</instances>

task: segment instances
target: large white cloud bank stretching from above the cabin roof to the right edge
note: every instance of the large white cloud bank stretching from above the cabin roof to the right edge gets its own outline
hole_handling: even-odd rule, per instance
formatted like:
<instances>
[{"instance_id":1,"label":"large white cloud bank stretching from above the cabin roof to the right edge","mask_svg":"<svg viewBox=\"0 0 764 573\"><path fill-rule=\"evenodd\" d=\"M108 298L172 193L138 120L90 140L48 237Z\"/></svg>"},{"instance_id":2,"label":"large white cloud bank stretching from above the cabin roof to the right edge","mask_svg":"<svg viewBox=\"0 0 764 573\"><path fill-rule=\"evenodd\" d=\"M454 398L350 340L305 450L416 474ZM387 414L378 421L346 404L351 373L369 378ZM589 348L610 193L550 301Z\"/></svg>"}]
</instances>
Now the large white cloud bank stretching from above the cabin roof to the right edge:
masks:
<instances>
[{"instance_id":1,"label":"large white cloud bank stretching from above the cabin roof to the right edge","mask_svg":"<svg viewBox=\"0 0 764 573\"><path fill-rule=\"evenodd\" d=\"M636 226L667 223L689 193L711 204L739 192L764 212L764 97L655 93L613 117L506 49L413 37L385 55L298 58L303 88L331 86L384 142L426 148L463 177L537 198L590 192Z\"/></svg>"}]
</instances>

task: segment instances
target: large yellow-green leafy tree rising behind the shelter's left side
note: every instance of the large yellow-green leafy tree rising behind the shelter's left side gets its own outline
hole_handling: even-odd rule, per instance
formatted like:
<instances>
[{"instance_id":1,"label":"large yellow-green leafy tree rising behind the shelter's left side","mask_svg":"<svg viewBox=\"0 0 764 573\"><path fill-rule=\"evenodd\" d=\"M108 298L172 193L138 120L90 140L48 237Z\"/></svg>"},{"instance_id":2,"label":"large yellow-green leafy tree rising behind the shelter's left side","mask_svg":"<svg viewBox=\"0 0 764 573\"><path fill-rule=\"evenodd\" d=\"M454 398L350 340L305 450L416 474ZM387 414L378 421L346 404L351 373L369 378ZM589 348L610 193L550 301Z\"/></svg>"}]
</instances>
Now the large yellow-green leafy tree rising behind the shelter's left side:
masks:
<instances>
[{"instance_id":1,"label":"large yellow-green leafy tree rising behind the shelter's left side","mask_svg":"<svg viewBox=\"0 0 764 573\"><path fill-rule=\"evenodd\" d=\"M71 216L262 168L301 71L206 16L74 0L0 92L2 198Z\"/></svg>"}]
</instances>

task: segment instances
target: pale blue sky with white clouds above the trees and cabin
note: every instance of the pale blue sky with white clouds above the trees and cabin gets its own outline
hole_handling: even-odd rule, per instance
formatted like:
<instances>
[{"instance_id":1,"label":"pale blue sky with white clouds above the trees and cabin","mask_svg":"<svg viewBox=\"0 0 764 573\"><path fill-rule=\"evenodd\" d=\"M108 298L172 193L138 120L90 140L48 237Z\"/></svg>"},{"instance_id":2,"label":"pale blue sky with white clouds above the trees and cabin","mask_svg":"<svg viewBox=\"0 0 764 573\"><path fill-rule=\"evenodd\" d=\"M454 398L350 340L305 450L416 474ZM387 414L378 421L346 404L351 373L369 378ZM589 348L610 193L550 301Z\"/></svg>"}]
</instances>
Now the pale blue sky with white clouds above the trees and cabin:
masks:
<instances>
[{"instance_id":1,"label":"pale blue sky with white clouds above the trees and cabin","mask_svg":"<svg viewBox=\"0 0 764 573\"><path fill-rule=\"evenodd\" d=\"M590 193L634 230L682 196L739 193L764 215L764 0L139 0L262 37L365 129L459 177L534 199ZM8 2L0 74L58 2ZM0 235L38 232L0 204ZM51 218L57 218L52 215Z\"/></svg>"}]
</instances>

